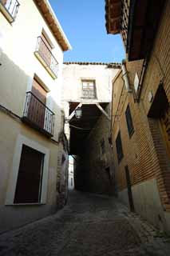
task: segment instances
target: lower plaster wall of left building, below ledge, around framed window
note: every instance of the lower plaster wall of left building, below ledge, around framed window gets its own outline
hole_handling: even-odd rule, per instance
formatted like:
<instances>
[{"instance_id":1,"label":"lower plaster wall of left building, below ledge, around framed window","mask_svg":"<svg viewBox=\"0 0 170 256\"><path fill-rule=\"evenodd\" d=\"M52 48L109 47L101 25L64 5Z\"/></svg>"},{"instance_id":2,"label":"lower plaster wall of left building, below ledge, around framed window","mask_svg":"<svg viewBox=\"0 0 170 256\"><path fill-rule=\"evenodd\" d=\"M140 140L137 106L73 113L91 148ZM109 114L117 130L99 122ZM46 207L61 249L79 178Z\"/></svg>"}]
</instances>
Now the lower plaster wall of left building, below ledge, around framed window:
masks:
<instances>
[{"instance_id":1,"label":"lower plaster wall of left building, below ledge, around framed window","mask_svg":"<svg viewBox=\"0 0 170 256\"><path fill-rule=\"evenodd\" d=\"M57 184L57 154L59 146L49 142L37 131L30 130L22 122L15 121L10 116L0 112L0 233L17 226L22 226L35 219L52 214L56 209ZM12 129L11 129L12 127ZM6 205L7 191L13 175L13 159L18 136L38 142L49 150L49 166L47 170L46 199L43 204L37 205Z\"/></svg>"}]
</instances>

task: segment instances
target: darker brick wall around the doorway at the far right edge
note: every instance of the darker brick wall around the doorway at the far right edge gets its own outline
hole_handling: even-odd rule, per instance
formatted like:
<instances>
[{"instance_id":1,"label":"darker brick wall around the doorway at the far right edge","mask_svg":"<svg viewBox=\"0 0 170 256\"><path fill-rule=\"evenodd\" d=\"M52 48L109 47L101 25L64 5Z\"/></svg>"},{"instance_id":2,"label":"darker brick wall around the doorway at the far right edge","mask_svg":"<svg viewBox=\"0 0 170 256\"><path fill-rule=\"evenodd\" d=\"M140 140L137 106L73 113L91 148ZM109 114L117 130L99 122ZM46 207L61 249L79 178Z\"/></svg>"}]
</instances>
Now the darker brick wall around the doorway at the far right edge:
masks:
<instances>
[{"instance_id":1,"label":"darker brick wall around the doorway at the far right edge","mask_svg":"<svg viewBox=\"0 0 170 256\"><path fill-rule=\"evenodd\" d=\"M154 98L160 82L163 82L164 90L170 102L170 2L164 6L160 26L158 28L151 58L144 76L141 90L141 101L144 102L145 113L151 110ZM148 94L152 92L153 102L148 101ZM170 162L164 146L164 139L161 136L159 119L149 118L149 126L152 139L158 158L155 168L157 184L160 191L160 198L164 205L164 210L170 211Z\"/></svg>"}]
</instances>

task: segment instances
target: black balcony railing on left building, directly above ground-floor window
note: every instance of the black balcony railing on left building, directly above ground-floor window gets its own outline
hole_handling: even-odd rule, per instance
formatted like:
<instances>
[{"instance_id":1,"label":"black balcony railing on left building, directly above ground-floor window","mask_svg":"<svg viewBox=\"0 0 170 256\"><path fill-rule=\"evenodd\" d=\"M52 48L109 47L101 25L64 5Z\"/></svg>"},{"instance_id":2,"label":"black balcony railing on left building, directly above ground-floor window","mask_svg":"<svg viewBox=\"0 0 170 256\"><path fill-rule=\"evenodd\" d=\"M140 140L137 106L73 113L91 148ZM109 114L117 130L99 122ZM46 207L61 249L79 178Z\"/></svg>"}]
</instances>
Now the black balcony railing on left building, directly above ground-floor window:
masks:
<instances>
[{"instance_id":1,"label":"black balcony railing on left building, directly above ground-floor window","mask_svg":"<svg viewBox=\"0 0 170 256\"><path fill-rule=\"evenodd\" d=\"M49 108L30 91L26 93L26 105L22 121L40 130L49 137L53 136L53 111L49 110Z\"/></svg>"}]
</instances>

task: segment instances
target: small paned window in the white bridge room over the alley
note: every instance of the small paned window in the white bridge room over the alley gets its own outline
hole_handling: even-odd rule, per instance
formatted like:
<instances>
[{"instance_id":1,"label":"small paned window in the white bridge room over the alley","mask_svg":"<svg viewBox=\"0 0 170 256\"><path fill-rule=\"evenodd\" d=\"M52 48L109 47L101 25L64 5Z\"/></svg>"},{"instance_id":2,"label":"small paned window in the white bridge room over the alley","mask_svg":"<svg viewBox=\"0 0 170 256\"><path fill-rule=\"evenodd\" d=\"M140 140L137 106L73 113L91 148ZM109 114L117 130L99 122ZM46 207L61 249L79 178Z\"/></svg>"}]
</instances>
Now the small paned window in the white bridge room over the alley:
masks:
<instances>
[{"instance_id":1,"label":"small paned window in the white bridge room over the alley","mask_svg":"<svg viewBox=\"0 0 170 256\"><path fill-rule=\"evenodd\" d=\"M94 80L82 81L82 98L97 98Z\"/></svg>"}]
</instances>

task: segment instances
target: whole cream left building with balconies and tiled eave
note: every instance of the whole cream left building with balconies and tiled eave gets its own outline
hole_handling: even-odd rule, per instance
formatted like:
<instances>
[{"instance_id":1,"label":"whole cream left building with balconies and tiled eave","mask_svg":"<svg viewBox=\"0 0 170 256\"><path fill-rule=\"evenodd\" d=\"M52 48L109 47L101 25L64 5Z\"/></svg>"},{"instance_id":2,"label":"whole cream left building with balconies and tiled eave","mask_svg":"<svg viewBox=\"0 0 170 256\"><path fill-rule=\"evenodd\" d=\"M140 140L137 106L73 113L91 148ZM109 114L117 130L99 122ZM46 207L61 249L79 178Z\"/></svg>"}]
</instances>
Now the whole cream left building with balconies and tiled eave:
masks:
<instances>
[{"instance_id":1,"label":"whole cream left building with balconies and tiled eave","mask_svg":"<svg viewBox=\"0 0 170 256\"><path fill-rule=\"evenodd\" d=\"M0 20L3 232L52 214L60 184L66 191L61 86L63 53L71 46L48 0L1 0Z\"/></svg>"}]
</instances>

